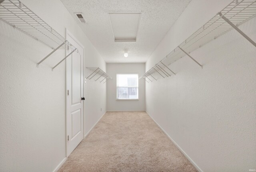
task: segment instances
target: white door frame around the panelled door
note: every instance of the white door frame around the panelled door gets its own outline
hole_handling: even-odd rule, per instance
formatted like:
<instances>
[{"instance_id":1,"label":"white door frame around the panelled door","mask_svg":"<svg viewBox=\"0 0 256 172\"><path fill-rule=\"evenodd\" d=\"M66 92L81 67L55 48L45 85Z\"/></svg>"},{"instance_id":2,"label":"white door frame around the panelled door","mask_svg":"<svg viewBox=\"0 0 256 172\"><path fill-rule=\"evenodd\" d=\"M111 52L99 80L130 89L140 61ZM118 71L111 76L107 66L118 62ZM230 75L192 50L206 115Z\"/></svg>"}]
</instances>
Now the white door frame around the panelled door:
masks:
<instances>
[{"instance_id":1,"label":"white door frame around the panelled door","mask_svg":"<svg viewBox=\"0 0 256 172\"><path fill-rule=\"evenodd\" d=\"M83 44L76 39L76 37L66 28L66 39L70 36L79 46L83 48L83 63L84 63L84 46ZM66 50L66 55L68 54L68 50ZM66 158L68 158L68 70L67 70L67 62L66 62ZM84 64L83 64L83 78L84 78ZM83 97L84 97L84 81L83 81ZM84 107L84 101L83 101ZM83 120L84 120L84 108L83 108ZM84 121L83 121L83 136L84 136ZM84 137L83 137L84 138Z\"/></svg>"}]
</instances>

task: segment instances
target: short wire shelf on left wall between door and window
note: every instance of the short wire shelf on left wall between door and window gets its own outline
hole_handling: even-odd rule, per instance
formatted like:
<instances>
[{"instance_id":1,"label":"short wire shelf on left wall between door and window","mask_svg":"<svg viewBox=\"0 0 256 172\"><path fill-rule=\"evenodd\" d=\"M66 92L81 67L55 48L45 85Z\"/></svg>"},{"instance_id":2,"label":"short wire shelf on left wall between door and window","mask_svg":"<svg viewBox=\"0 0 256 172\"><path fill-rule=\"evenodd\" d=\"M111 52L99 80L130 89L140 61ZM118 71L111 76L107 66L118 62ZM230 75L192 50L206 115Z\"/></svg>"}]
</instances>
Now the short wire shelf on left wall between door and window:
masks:
<instances>
[{"instance_id":1,"label":"short wire shelf on left wall between door and window","mask_svg":"<svg viewBox=\"0 0 256 172\"><path fill-rule=\"evenodd\" d=\"M94 81L99 80L100 82L103 82L104 80L105 80L105 82L107 82L109 79L111 79L111 80L113 79L111 76L109 76L106 72L104 72L103 70L101 70L98 67L86 67L86 68L88 68L89 70L92 71L92 73L86 77L86 79L88 79L88 80L91 80L92 78L94 78L94 76L97 76L97 77L95 77ZM103 84L105 82L103 82Z\"/></svg>"}]
</instances>

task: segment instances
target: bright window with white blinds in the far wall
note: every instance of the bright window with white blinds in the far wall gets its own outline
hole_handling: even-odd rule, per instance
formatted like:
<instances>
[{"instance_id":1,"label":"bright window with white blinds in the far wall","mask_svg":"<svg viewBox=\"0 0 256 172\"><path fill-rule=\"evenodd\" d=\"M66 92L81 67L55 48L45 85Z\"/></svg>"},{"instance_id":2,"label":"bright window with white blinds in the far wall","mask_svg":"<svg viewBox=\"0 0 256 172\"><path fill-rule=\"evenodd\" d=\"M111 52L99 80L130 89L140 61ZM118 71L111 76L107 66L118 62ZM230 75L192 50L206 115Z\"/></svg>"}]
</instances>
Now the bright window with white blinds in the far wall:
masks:
<instances>
[{"instance_id":1,"label":"bright window with white blinds in the far wall","mask_svg":"<svg viewBox=\"0 0 256 172\"><path fill-rule=\"evenodd\" d=\"M116 99L138 99L138 74L116 74Z\"/></svg>"}]
</instances>

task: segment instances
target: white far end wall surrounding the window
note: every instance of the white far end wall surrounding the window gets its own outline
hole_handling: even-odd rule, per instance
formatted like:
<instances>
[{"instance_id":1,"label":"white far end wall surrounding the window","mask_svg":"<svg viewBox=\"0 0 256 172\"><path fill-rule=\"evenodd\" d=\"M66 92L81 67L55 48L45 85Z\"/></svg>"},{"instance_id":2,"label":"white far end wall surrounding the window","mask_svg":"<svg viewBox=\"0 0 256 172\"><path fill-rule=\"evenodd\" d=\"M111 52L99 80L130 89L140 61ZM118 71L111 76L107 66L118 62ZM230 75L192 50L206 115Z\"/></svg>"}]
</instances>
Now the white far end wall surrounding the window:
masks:
<instances>
[{"instance_id":1,"label":"white far end wall surrounding the window","mask_svg":"<svg viewBox=\"0 0 256 172\"><path fill-rule=\"evenodd\" d=\"M129 58L129 57L128 57ZM107 111L144 111L145 82L139 80L139 100L116 100L116 74L145 73L145 63L107 63L107 73L113 78L107 83Z\"/></svg>"}]
</instances>

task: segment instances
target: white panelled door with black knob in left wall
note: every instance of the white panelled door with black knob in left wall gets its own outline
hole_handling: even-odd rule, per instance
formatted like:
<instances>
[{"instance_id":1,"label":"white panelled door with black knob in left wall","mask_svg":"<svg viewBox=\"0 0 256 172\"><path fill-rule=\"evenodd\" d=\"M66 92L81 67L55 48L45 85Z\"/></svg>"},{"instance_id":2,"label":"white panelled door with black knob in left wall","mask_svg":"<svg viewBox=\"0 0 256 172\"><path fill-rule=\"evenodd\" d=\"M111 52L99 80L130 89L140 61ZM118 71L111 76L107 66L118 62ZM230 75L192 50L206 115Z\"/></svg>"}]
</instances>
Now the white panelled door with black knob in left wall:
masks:
<instances>
[{"instance_id":1,"label":"white panelled door with black knob in left wall","mask_svg":"<svg viewBox=\"0 0 256 172\"><path fill-rule=\"evenodd\" d=\"M67 31L66 39L78 52L66 60L67 71L67 157L84 138L84 48ZM67 54L72 50L68 50Z\"/></svg>"}]
</instances>

